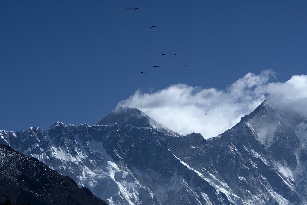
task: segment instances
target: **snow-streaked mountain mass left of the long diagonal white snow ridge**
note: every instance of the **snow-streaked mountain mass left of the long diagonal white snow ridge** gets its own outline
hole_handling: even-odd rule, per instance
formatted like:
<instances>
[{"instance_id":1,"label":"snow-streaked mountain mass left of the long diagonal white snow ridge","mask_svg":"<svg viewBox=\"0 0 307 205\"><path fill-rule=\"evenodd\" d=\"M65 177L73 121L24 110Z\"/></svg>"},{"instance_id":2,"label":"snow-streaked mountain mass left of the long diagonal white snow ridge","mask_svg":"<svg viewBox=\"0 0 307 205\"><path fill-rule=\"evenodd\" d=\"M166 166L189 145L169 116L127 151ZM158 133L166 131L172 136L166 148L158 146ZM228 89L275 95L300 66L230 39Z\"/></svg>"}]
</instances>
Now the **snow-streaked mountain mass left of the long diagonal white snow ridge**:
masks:
<instances>
[{"instance_id":1,"label":"snow-streaked mountain mass left of the long diagonal white snow ridge","mask_svg":"<svg viewBox=\"0 0 307 205\"><path fill-rule=\"evenodd\" d=\"M233 204L235 196L231 199L216 190L161 139L164 133L171 137L177 133L135 108L121 107L111 115L114 119L100 121L108 125L75 127L57 122L45 132L37 127L1 131L0 140L70 176L108 204ZM143 121L133 126L118 124L118 119L131 124Z\"/></svg>"}]
</instances>

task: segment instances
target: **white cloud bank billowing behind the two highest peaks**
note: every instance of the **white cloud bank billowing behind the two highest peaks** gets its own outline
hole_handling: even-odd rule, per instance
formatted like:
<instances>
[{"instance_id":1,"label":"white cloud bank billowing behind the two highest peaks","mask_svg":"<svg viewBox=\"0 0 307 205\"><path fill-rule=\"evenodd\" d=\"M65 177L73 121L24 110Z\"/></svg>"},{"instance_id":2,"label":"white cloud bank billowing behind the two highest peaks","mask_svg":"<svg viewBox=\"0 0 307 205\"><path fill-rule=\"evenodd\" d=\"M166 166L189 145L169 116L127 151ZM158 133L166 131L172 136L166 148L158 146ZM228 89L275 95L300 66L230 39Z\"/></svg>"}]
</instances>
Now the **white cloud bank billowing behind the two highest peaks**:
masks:
<instances>
[{"instance_id":1,"label":"white cloud bank billowing behind the two highest peaks","mask_svg":"<svg viewBox=\"0 0 307 205\"><path fill-rule=\"evenodd\" d=\"M279 111L307 118L307 76L269 82L272 78L275 73L269 69L260 75L247 73L225 90L186 84L150 93L137 90L118 105L137 107L181 135L199 132L206 139L234 126L265 99Z\"/></svg>"}]
</instances>

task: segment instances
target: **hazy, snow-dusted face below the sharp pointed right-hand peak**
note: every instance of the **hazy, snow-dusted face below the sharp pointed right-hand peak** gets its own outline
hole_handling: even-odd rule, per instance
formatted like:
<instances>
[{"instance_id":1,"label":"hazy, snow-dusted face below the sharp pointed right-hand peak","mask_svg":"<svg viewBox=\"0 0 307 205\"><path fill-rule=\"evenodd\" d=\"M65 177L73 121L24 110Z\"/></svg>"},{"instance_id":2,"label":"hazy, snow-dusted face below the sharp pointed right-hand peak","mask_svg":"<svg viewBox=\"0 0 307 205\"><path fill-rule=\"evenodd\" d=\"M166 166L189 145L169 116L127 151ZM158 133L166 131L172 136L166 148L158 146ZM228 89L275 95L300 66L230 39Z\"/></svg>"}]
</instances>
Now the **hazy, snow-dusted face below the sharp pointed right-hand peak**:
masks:
<instances>
[{"instance_id":1,"label":"hazy, snow-dusted face below the sharp pointed right-hand peak","mask_svg":"<svg viewBox=\"0 0 307 205\"><path fill-rule=\"evenodd\" d=\"M278 170L284 177L295 182L293 189L306 200L307 154L300 141L306 135L297 135L291 120L289 122L266 101L241 121L255 130Z\"/></svg>"}]
</instances>

